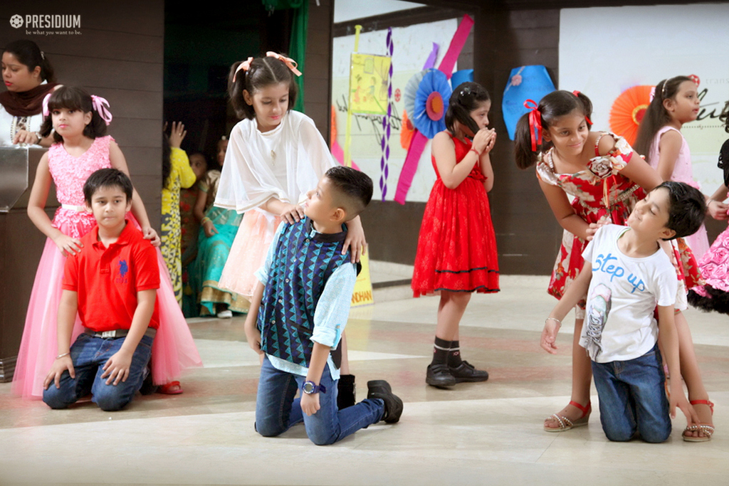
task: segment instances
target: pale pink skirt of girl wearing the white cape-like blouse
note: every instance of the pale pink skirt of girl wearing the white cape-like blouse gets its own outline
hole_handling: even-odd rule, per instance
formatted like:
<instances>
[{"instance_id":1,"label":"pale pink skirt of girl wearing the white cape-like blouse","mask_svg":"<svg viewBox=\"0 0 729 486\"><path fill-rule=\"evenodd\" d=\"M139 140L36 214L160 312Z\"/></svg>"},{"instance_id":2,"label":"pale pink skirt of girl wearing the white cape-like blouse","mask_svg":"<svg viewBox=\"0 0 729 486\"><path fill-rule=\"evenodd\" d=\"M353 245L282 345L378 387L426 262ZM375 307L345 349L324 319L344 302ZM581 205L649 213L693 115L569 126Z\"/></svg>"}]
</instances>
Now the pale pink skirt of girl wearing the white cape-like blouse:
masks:
<instances>
[{"instance_id":1,"label":"pale pink skirt of girl wearing the white cape-like blouse","mask_svg":"<svg viewBox=\"0 0 729 486\"><path fill-rule=\"evenodd\" d=\"M253 295L258 282L253 274L265 262L268 247L280 223L280 217L268 218L257 210L243 215L220 276L220 286L249 298Z\"/></svg>"}]
</instances>

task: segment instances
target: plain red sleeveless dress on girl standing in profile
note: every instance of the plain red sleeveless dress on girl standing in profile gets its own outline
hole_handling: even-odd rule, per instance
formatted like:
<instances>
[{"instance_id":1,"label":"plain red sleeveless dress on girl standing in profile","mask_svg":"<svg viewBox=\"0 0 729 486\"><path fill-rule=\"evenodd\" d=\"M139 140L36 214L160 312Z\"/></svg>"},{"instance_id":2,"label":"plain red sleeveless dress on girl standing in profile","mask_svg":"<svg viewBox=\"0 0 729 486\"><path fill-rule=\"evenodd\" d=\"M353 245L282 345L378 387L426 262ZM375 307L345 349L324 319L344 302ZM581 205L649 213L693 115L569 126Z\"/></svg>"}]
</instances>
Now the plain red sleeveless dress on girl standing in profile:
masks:
<instances>
[{"instance_id":1,"label":"plain red sleeveless dress on girl standing in profile","mask_svg":"<svg viewBox=\"0 0 729 486\"><path fill-rule=\"evenodd\" d=\"M456 163L471 149L469 141L451 136ZM413 296L440 290L492 293L499 291L499 262L494 224L483 181L475 164L456 189L437 180L425 206L413 271Z\"/></svg>"}]
</instances>

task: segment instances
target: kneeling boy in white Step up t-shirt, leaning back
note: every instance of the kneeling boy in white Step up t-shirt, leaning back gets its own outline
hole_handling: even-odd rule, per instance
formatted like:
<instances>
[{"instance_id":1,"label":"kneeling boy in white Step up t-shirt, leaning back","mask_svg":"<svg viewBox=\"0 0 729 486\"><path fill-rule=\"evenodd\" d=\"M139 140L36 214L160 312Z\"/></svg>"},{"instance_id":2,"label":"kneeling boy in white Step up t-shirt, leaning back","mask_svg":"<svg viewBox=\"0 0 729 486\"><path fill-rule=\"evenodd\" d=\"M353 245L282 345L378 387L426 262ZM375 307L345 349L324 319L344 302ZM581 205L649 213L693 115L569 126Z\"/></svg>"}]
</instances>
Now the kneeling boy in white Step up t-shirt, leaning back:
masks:
<instances>
[{"instance_id":1,"label":"kneeling boy in white Step up t-shirt, leaning back","mask_svg":"<svg viewBox=\"0 0 729 486\"><path fill-rule=\"evenodd\" d=\"M636 204L628 227L609 224L597 230L582 254L582 272L545 321L541 345L555 353L561 319L587 294L580 345L592 361L602 428L612 441L628 441L636 432L646 442L665 441L671 435L668 415L675 417L676 406L689 423L699 422L681 380L671 380L670 404L663 387L658 341L668 372L681 374L676 270L659 242L693 234L705 215L698 189L660 184Z\"/></svg>"}]
</instances>

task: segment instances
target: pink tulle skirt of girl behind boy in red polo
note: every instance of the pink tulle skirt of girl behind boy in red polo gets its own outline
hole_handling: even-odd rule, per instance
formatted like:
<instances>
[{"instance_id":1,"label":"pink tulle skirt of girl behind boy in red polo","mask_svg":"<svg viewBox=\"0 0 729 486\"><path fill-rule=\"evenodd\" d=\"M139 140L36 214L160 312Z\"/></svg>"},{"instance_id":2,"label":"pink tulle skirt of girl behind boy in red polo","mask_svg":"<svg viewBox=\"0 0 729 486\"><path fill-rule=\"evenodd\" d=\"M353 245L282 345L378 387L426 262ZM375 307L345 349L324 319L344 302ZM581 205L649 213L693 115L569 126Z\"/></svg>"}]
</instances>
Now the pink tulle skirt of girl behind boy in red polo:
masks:
<instances>
[{"instance_id":1,"label":"pink tulle skirt of girl behind boy in red polo","mask_svg":"<svg viewBox=\"0 0 729 486\"><path fill-rule=\"evenodd\" d=\"M131 214L128 217L134 221ZM95 224L90 213L75 213L59 209L54 225L66 235L79 238ZM139 227L136 221L134 224ZM61 302L61 281L66 256L48 238L43 248L36 279L28 302L26 326L17 355L12 391L23 398L37 399L43 396L43 381L58 350L56 334L58 304ZM157 248L157 264L160 267L160 289L157 290L157 306L160 328L152 345L152 381L164 385L178 378L182 369L202 365L198 348L192 340L190 328L184 320L172 290L167 267ZM78 316L71 343L83 332Z\"/></svg>"}]
</instances>

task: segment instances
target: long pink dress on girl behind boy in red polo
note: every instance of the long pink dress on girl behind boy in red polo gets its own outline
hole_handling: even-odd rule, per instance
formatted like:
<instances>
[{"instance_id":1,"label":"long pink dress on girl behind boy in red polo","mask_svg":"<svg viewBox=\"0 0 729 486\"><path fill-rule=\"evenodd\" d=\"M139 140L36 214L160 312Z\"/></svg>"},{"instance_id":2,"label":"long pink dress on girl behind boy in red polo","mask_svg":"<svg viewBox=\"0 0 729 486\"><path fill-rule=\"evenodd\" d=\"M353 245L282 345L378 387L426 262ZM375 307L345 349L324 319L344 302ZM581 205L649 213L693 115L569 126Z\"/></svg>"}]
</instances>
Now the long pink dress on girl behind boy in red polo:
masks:
<instances>
[{"instance_id":1,"label":"long pink dress on girl behind boy in red polo","mask_svg":"<svg viewBox=\"0 0 729 486\"><path fill-rule=\"evenodd\" d=\"M84 210L83 184L94 171L110 168L110 136L96 138L87 151L79 157L66 152L63 144L48 149L48 168L55 184L61 208L55 212L52 224L64 234L81 238L96 224L93 214ZM135 224L131 213L128 219ZM139 226L139 224L137 224ZM160 329L152 345L152 378L163 385L179 377L182 369L200 366L200 356L192 340L190 329L172 291L162 254L157 251L160 264L160 289L157 302L160 312ZM12 391L25 398L43 396L43 380L51 367L58 349L56 317L61 302L61 281L66 257L50 238L43 248L36 278L28 302L26 326L13 375ZM71 337L73 342L82 332L77 316Z\"/></svg>"}]
</instances>

